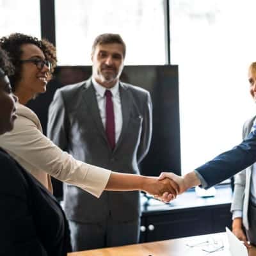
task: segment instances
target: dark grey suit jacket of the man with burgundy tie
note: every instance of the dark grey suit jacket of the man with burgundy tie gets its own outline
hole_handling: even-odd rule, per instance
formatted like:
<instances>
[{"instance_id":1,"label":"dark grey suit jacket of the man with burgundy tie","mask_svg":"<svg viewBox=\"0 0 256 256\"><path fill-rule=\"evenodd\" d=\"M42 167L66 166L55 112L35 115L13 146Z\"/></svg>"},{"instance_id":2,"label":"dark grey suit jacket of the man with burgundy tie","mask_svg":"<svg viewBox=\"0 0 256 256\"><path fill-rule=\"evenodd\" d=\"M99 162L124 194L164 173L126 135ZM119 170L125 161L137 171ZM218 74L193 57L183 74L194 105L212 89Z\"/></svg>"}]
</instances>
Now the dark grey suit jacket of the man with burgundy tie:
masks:
<instances>
[{"instance_id":1,"label":"dark grey suit jacket of the man with burgundy tie","mask_svg":"<svg viewBox=\"0 0 256 256\"><path fill-rule=\"evenodd\" d=\"M115 172L139 173L138 164L148 152L152 135L150 94L120 83L123 125L112 151L100 118L91 79L56 91L49 108L48 136L76 159ZM65 212L69 220L95 223L106 220L137 220L138 191L104 191L99 199L69 184L64 186Z\"/></svg>"}]
</instances>

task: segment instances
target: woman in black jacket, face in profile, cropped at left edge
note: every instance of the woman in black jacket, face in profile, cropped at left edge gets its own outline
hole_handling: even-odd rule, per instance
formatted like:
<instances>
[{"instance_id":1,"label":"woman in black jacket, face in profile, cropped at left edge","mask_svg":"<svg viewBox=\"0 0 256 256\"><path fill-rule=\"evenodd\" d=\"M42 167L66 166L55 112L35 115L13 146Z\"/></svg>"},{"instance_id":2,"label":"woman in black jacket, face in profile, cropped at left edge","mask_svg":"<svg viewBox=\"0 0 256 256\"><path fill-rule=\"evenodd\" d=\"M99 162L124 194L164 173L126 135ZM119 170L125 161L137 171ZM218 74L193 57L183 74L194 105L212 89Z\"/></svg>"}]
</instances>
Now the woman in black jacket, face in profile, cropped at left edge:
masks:
<instances>
[{"instance_id":1,"label":"woman in black jacket, face in profile, cropped at left edge","mask_svg":"<svg viewBox=\"0 0 256 256\"><path fill-rule=\"evenodd\" d=\"M0 48L0 135L13 129L15 102L8 76L13 65ZM0 255L64 256L68 224L56 199L0 148Z\"/></svg>"}]
</instances>

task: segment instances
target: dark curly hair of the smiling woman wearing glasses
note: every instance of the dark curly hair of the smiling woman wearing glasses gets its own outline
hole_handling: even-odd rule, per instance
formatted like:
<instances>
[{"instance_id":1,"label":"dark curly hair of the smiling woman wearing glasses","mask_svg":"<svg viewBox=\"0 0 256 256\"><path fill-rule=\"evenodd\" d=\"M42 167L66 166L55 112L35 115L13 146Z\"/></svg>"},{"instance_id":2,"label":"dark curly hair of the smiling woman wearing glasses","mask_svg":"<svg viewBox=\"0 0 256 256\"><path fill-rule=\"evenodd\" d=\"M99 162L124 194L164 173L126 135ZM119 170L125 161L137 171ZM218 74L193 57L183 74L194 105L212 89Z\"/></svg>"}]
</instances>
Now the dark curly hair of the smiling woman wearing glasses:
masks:
<instances>
[{"instance_id":1,"label":"dark curly hair of the smiling woman wearing glasses","mask_svg":"<svg viewBox=\"0 0 256 256\"><path fill-rule=\"evenodd\" d=\"M14 74L9 76L13 92L15 91L15 86L17 82L19 82L21 78L20 58L22 55L22 50L20 49L20 47L24 44L35 44L42 50L42 52L44 52L45 59L49 60L52 63L51 73L54 71L54 67L56 67L57 63L56 49L54 45L52 45L49 41L45 39L39 40L36 37L20 33L13 33L10 36L3 36L2 38L0 38L0 47L8 52L10 60L15 67Z\"/></svg>"}]
</instances>

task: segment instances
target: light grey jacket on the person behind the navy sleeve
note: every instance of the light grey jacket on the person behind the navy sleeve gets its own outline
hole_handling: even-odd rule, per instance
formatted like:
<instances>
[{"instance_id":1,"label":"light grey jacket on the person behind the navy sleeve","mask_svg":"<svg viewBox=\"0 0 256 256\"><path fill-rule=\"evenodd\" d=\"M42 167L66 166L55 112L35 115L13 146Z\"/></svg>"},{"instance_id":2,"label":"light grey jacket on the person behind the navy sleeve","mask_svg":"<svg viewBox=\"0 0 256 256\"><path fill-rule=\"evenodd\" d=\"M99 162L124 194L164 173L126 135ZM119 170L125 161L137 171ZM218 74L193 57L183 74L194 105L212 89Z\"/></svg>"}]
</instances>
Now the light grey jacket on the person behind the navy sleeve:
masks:
<instances>
[{"instance_id":1,"label":"light grey jacket on the person behind the navy sleeve","mask_svg":"<svg viewBox=\"0 0 256 256\"><path fill-rule=\"evenodd\" d=\"M250 118L244 123L243 139L246 138L246 136L248 136L248 134L250 133L255 117L256 116L253 116L253 118ZM243 225L246 228L246 230L249 229L248 205L250 200L251 175L252 165L244 169L240 173L237 173L234 183L234 196L231 205L231 211L243 211Z\"/></svg>"}]
</instances>

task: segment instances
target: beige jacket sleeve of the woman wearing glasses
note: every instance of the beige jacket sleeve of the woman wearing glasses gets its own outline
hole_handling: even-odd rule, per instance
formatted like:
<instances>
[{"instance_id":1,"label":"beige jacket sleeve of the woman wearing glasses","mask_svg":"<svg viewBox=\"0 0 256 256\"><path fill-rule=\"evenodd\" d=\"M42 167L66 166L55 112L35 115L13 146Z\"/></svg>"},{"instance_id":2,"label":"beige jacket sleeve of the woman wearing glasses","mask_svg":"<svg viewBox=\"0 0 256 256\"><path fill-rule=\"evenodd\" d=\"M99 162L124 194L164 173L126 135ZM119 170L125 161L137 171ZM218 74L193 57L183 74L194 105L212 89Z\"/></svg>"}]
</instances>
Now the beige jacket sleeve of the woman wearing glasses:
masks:
<instances>
[{"instance_id":1,"label":"beige jacket sleeve of the woman wearing glasses","mask_svg":"<svg viewBox=\"0 0 256 256\"><path fill-rule=\"evenodd\" d=\"M33 168L33 172L47 172L97 197L106 188L111 174L110 170L77 161L63 152L24 116L17 118L12 132L1 136L0 145L26 170Z\"/></svg>"}]
</instances>

